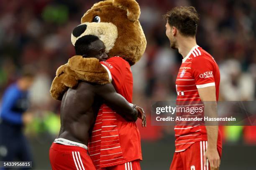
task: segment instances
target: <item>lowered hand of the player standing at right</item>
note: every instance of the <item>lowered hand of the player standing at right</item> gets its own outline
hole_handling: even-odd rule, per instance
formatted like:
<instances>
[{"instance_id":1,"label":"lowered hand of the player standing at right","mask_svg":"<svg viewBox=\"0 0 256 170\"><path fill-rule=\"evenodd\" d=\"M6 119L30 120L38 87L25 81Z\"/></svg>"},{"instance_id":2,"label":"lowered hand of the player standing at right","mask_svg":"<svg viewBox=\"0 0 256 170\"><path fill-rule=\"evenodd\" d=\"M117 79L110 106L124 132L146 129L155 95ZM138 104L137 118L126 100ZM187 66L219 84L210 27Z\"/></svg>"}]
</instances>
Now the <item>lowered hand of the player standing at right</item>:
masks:
<instances>
[{"instance_id":1,"label":"lowered hand of the player standing at right","mask_svg":"<svg viewBox=\"0 0 256 170\"><path fill-rule=\"evenodd\" d=\"M207 159L210 163L211 170L218 170L220 167L220 156L217 148L207 148L204 155L204 166L207 165Z\"/></svg>"}]
</instances>

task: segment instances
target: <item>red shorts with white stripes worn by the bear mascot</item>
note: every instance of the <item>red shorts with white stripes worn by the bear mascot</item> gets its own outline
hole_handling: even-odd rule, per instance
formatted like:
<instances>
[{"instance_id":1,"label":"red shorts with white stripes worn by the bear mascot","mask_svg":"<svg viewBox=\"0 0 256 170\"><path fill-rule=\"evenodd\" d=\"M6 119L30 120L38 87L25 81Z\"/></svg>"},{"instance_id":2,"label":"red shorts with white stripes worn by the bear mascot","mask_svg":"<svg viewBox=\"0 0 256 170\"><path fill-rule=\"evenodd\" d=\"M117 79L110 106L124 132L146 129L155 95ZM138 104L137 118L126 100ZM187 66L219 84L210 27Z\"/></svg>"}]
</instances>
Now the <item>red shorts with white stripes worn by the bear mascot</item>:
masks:
<instances>
[{"instance_id":1,"label":"red shorts with white stripes worn by the bear mascot","mask_svg":"<svg viewBox=\"0 0 256 170\"><path fill-rule=\"evenodd\" d=\"M99 170L141 170L141 165L140 165L140 160L133 160L128 163L107 167L107 168L101 168Z\"/></svg>"}]
</instances>

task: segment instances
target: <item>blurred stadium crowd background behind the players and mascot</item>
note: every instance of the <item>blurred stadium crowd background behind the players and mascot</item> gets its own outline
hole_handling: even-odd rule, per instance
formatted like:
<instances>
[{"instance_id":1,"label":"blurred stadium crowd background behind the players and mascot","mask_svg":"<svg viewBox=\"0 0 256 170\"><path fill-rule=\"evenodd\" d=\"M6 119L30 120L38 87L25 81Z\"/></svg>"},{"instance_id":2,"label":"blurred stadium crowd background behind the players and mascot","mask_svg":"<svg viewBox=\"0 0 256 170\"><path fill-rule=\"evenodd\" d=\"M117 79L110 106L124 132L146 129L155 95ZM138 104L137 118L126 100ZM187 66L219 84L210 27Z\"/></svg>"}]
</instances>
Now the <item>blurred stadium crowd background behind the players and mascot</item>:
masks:
<instances>
[{"instance_id":1,"label":"blurred stadium crowd background behind the players and mascot","mask_svg":"<svg viewBox=\"0 0 256 170\"><path fill-rule=\"evenodd\" d=\"M195 6L200 13L197 44L215 57L221 70L220 100L255 100L255 0L137 0L147 39L146 52L132 67L133 103L145 108L140 128L143 170L167 170L174 152L173 127L150 125L151 100L175 100L175 78L182 56L169 48L162 15L174 6ZM56 69L74 55L70 35L97 0L0 1L0 97L26 66L36 69L31 88L33 122L26 135L36 170L49 170L49 147L59 132L60 102L49 89ZM138 125L140 120L138 121ZM139 125L140 127L140 125ZM220 169L256 169L256 127L222 128ZM0 150L0 155L1 153Z\"/></svg>"}]
</instances>

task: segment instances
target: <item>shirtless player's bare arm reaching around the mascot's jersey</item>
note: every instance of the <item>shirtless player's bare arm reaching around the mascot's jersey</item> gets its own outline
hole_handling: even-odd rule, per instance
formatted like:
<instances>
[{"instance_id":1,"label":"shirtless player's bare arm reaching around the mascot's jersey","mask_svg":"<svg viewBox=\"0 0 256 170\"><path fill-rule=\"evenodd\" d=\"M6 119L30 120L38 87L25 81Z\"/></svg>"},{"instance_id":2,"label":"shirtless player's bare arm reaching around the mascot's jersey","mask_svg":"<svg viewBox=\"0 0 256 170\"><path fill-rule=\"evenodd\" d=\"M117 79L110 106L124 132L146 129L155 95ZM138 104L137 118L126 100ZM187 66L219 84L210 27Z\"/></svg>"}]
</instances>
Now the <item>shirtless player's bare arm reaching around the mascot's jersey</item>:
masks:
<instances>
[{"instance_id":1,"label":"shirtless player's bare arm reaching around the mascot's jersey","mask_svg":"<svg viewBox=\"0 0 256 170\"><path fill-rule=\"evenodd\" d=\"M118 94L111 83L95 86L95 93L102 97L103 100L105 100L111 108L116 110L119 115L126 120L137 120L138 110L136 105L129 103L122 95Z\"/></svg>"}]
</instances>

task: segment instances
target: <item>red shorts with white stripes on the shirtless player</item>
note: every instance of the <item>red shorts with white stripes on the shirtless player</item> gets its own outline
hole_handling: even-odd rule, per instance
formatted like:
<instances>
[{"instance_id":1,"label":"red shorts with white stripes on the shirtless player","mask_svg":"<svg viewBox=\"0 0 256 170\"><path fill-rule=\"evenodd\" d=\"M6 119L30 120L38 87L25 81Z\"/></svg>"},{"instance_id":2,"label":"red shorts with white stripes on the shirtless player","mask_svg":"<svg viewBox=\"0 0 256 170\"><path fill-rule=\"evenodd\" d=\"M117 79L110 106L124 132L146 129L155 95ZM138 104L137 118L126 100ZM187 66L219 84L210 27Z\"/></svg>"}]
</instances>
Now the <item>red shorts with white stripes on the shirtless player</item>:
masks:
<instances>
[{"instance_id":1,"label":"red shorts with white stripes on the shirtless player","mask_svg":"<svg viewBox=\"0 0 256 170\"><path fill-rule=\"evenodd\" d=\"M87 150L79 146L52 143L49 156L52 170L96 170Z\"/></svg>"}]
</instances>

